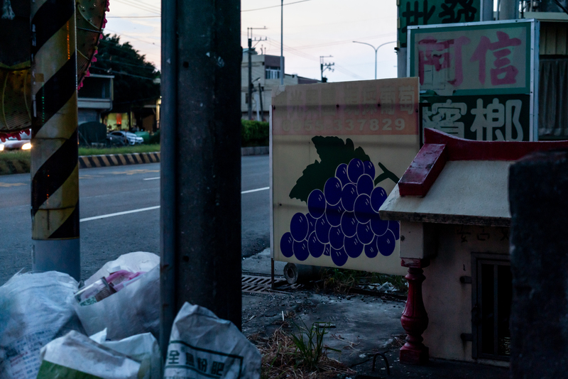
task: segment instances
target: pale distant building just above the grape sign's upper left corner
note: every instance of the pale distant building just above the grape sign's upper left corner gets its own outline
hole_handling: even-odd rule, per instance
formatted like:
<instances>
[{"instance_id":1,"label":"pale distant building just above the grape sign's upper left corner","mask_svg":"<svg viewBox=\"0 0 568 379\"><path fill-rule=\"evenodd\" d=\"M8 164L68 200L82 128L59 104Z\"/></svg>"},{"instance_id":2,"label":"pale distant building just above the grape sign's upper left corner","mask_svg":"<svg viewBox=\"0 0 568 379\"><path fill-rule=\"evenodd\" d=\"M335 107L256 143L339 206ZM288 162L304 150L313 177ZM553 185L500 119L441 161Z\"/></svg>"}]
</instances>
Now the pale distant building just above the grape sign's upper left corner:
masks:
<instances>
[{"instance_id":1,"label":"pale distant building just above the grape sign's upper left corner","mask_svg":"<svg viewBox=\"0 0 568 379\"><path fill-rule=\"evenodd\" d=\"M256 50L251 49L251 66L253 120L257 120L258 115L260 121L268 121L272 100L272 87L280 85L280 56L258 54ZM285 85L320 82L320 80L308 79L307 77L300 77L296 74L284 75ZM259 84L260 89L258 87ZM244 49L243 62L241 63L241 114L243 119L249 118L249 101L251 101L251 99L249 99L249 49Z\"/></svg>"}]
</instances>

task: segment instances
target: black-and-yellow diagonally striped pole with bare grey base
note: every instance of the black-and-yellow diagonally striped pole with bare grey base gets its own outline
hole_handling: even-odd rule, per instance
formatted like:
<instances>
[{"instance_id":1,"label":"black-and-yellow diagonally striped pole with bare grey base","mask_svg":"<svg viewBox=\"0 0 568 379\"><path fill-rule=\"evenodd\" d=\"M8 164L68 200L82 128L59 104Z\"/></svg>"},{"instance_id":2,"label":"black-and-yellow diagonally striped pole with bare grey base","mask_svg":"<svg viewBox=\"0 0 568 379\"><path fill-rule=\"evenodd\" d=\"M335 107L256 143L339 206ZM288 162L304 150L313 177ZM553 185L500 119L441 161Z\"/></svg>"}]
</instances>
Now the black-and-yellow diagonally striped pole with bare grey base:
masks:
<instances>
[{"instance_id":1,"label":"black-and-yellow diagonally striped pole with bare grey base","mask_svg":"<svg viewBox=\"0 0 568 379\"><path fill-rule=\"evenodd\" d=\"M32 0L33 270L80 278L74 0Z\"/></svg>"}]
</instances>

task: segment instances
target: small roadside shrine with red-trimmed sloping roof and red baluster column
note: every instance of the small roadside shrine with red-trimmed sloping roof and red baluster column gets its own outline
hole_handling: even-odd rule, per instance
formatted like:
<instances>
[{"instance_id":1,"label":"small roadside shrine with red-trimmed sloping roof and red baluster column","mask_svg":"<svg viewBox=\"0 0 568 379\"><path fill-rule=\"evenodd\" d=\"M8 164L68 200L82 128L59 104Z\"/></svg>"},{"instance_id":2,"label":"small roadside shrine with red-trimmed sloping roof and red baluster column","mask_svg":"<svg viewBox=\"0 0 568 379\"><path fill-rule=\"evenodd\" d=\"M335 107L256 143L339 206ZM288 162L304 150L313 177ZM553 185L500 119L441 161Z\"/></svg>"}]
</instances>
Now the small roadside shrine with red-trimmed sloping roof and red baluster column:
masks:
<instances>
[{"instance_id":1,"label":"small roadside shrine with red-trimmed sloping roof and red baluster column","mask_svg":"<svg viewBox=\"0 0 568 379\"><path fill-rule=\"evenodd\" d=\"M507 366L509 166L568 143L468 141L430 128L424 134L425 145L379 209L381 219L400 220L400 259L408 268L400 361Z\"/></svg>"}]
</instances>

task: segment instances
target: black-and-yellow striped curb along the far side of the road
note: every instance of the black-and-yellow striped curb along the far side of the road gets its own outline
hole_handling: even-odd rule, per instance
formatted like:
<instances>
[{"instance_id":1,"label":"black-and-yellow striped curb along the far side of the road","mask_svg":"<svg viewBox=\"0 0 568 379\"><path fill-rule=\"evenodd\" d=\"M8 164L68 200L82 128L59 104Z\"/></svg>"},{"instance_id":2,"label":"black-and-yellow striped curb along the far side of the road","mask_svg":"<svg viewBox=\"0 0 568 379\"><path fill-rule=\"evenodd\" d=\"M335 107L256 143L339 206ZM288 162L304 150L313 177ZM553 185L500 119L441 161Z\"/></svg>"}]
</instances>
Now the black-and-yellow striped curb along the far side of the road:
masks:
<instances>
[{"instance_id":1,"label":"black-and-yellow striped curb along the far side of the road","mask_svg":"<svg viewBox=\"0 0 568 379\"><path fill-rule=\"evenodd\" d=\"M241 155L266 155L268 146L241 148ZM106 155L81 155L79 168L139 165L160 162L160 152L129 153ZM26 174L30 172L30 163L23 160L0 160L0 175Z\"/></svg>"}]
</instances>

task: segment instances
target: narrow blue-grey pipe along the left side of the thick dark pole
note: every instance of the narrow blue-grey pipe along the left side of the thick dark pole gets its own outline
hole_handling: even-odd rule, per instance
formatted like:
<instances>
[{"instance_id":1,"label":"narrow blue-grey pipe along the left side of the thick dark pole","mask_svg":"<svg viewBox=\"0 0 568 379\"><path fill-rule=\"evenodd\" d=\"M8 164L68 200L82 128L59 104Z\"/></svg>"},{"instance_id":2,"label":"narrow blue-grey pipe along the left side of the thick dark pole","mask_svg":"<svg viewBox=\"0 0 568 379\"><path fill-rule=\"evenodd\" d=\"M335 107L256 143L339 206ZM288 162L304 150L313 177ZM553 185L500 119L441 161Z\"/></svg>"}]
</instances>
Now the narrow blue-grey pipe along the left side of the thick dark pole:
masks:
<instances>
[{"instance_id":1,"label":"narrow blue-grey pipe along the left side of the thick dark pole","mask_svg":"<svg viewBox=\"0 0 568 379\"><path fill-rule=\"evenodd\" d=\"M160 348L168 351L170 331L178 312L176 236L178 160L176 159L178 103L177 1L162 0L162 72L160 92Z\"/></svg>"}]
</instances>

